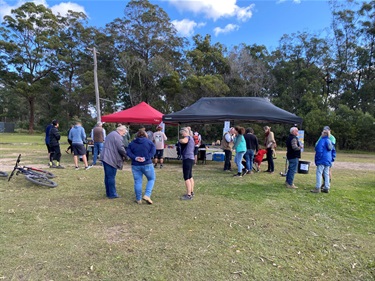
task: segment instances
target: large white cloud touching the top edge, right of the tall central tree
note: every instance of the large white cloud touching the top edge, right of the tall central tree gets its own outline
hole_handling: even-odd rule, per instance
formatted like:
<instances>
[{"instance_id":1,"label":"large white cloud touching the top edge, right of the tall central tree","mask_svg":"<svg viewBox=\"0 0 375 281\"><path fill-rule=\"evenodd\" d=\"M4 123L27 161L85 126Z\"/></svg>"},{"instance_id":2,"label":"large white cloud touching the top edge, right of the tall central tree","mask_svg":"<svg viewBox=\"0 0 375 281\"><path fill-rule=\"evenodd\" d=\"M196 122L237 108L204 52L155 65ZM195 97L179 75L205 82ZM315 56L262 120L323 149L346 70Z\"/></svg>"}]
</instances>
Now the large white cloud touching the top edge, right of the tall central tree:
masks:
<instances>
[{"instance_id":1,"label":"large white cloud touching the top edge, right of the tall central tree","mask_svg":"<svg viewBox=\"0 0 375 281\"><path fill-rule=\"evenodd\" d=\"M195 14L203 14L214 21L225 17L236 17L240 21L246 21L253 15L251 4L247 7L236 5L237 0L167 0L180 11L190 11Z\"/></svg>"}]
</instances>

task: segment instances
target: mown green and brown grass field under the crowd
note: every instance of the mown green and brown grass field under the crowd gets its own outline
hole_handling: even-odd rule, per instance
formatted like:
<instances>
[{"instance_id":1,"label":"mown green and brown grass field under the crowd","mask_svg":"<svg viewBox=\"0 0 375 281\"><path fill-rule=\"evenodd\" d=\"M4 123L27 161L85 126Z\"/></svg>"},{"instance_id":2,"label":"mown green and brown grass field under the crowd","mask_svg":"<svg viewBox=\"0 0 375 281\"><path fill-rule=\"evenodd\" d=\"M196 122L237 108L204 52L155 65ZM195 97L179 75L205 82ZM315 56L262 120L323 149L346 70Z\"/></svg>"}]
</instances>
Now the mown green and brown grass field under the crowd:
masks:
<instances>
[{"instance_id":1,"label":"mown green and brown grass field under the crowd","mask_svg":"<svg viewBox=\"0 0 375 281\"><path fill-rule=\"evenodd\" d=\"M21 164L46 167L42 143L1 144L0 163L10 167L18 153ZM180 162L167 161L154 204L137 205L129 163L117 176L122 198L107 200L102 169L75 171L64 154L55 189L0 179L0 279L374 280L374 170L354 169L374 160L338 153L329 194L309 192L313 165L288 190L277 173L232 178L210 161L194 168L189 202L179 200Z\"/></svg>"}]
</instances>

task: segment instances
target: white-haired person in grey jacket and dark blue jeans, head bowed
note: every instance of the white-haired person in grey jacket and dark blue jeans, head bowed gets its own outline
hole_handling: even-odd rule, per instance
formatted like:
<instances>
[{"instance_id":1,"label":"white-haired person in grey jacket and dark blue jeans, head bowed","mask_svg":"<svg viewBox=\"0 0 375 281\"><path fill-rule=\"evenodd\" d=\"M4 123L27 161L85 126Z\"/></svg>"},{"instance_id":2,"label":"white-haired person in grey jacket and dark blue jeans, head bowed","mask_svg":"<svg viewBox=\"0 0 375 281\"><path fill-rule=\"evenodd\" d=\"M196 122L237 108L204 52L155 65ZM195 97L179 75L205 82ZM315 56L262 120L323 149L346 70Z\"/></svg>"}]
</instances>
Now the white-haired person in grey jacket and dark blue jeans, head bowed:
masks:
<instances>
[{"instance_id":1,"label":"white-haired person in grey jacket and dark blue jeans, head bowed","mask_svg":"<svg viewBox=\"0 0 375 281\"><path fill-rule=\"evenodd\" d=\"M109 199L119 197L116 191L116 173L117 170L122 170L126 159L123 137L127 132L125 126L118 126L116 131L107 135L101 152L100 161L104 168L105 192Z\"/></svg>"}]
</instances>

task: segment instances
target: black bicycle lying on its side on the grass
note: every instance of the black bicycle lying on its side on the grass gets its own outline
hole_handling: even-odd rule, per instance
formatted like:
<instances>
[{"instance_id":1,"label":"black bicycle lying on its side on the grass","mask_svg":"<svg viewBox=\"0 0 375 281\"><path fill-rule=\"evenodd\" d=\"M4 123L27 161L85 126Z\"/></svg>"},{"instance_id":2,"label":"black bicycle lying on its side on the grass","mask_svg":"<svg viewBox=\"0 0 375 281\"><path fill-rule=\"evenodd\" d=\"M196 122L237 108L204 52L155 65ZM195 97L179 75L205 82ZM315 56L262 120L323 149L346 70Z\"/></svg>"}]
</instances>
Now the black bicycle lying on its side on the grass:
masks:
<instances>
[{"instance_id":1,"label":"black bicycle lying on its side on the grass","mask_svg":"<svg viewBox=\"0 0 375 281\"><path fill-rule=\"evenodd\" d=\"M12 173L10 174L8 181L13 177L14 173L16 175L23 174L26 178L26 180L31 181L32 183L48 186L48 187L56 187L57 183L51 181L49 178L54 178L55 175L51 172L44 171L38 168L33 167L27 167L27 166L19 166L19 163L21 162L21 154L18 155L16 165L13 168Z\"/></svg>"}]
</instances>

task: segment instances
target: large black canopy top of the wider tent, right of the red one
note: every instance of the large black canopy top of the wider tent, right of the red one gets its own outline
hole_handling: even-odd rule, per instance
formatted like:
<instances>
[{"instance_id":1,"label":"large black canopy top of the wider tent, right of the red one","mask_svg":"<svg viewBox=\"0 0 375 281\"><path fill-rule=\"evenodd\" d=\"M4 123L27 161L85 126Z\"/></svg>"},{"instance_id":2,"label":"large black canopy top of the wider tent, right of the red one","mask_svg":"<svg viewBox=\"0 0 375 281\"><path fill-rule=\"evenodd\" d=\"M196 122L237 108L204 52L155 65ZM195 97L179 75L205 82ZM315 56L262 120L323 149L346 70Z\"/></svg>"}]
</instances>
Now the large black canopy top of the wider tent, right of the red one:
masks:
<instances>
[{"instance_id":1,"label":"large black canopy top of the wider tent, right of the red one","mask_svg":"<svg viewBox=\"0 0 375 281\"><path fill-rule=\"evenodd\" d=\"M164 123L244 121L302 124L302 118L258 97L201 98L191 106L163 116Z\"/></svg>"}]
</instances>

